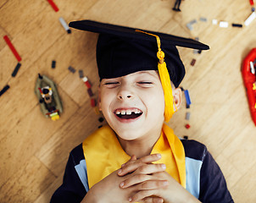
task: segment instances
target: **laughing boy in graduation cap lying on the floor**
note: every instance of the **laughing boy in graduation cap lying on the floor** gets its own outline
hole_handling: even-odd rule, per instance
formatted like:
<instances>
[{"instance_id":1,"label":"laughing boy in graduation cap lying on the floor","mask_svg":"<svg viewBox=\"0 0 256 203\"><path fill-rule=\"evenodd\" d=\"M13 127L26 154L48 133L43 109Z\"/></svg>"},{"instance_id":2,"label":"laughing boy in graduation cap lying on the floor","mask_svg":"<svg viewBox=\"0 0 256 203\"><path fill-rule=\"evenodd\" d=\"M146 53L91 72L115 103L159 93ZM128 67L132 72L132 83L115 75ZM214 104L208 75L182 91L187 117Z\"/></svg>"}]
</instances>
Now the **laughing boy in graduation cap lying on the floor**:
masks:
<instances>
[{"instance_id":1,"label":"laughing boy in graduation cap lying on the floor","mask_svg":"<svg viewBox=\"0 0 256 203\"><path fill-rule=\"evenodd\" d=\"M175 46L209 47L89 20L70 27L100 33L99 107L109 125L70 152L51 201L233 202L206 147L164 124L181 105L185 69Z\"/></svg>"}]
</instances>

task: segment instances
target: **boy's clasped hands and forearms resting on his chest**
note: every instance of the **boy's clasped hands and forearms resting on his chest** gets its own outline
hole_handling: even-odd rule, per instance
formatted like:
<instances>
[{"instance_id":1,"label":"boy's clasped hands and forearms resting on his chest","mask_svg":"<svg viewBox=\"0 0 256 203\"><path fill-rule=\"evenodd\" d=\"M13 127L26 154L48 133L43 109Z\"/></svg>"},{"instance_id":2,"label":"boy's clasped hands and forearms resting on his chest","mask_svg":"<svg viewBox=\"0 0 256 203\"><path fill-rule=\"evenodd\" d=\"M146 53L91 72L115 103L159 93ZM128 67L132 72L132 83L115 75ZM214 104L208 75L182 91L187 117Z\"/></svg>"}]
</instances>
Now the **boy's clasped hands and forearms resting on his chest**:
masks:
<instances>
[{"instance_id":1,"label":"boy's clasped hands and forearms resting on his chest","mask_svg":"<svg viewBox=\"0 0 256 203\"><path fill-rule=\"evenodd\" d=\"M153 163L160 159L159 154L131 156L119 170L93 185L82 202L199 202L165 172L164 164Z\"/></svg>"}]
</instances>

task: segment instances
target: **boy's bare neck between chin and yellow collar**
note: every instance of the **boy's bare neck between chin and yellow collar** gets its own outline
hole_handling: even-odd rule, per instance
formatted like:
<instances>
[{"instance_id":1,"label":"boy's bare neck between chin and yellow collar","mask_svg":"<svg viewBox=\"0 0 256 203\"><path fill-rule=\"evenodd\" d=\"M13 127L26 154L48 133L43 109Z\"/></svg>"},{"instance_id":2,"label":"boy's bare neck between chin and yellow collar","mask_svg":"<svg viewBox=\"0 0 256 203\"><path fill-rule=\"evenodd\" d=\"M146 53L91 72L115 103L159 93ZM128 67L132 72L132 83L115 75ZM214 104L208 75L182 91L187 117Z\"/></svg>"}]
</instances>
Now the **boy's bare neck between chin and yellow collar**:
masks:
<instances>
[{"instance_id":1,"label":"boy's bare neck between chin and yellow collar","mask_svg":"<svg viewBox=\"0 0 256 203\"><path fill-rule=\"evenodd\" d=\"M159 140L161 130L162 129L154 134L147 134L138 140L123 140L118 135L117 138L120 141L120 145L122 146L125 153L129 156L135 155L138 159L151 153L153 146L157 140Z\"/></svg>"}]
</instances>

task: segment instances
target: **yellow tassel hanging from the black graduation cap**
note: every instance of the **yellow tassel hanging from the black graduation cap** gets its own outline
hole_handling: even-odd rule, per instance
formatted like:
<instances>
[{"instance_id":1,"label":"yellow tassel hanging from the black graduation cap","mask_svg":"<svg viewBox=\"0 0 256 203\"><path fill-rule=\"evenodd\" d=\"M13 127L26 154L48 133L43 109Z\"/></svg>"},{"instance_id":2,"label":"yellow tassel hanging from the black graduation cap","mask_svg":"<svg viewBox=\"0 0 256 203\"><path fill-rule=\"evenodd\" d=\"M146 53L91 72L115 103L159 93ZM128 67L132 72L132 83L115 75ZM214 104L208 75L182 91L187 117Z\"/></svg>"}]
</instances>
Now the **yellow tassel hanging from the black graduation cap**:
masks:
<instances>
[{"instance_id":1,"label":"yellow tassel hanging from the black graduation cap","mask_svg":"<svg viewBox=\"0 0 256 203\"><path fill-rule=\"evenodd\" d=\"M164 90L164 121L169 122L170 118L174 114L174 112L177 110L177 107L175 105L176 110L174 111L173 105L175 104L174 98L172 96L172 88L170 85L170 75L168 72L168 69L166 67L166 63L164 62L164 52L161 51L161 42L159 36L153 35L151 33L144 32L142 30L136 30L136 32L142 32L144 34L147 34L149 36L155 36L157 38L157 43L159 47L159 52L157 52L157 57L159 58L159 77L161 80L161 84Z\"/></svg>"}]
</instances>

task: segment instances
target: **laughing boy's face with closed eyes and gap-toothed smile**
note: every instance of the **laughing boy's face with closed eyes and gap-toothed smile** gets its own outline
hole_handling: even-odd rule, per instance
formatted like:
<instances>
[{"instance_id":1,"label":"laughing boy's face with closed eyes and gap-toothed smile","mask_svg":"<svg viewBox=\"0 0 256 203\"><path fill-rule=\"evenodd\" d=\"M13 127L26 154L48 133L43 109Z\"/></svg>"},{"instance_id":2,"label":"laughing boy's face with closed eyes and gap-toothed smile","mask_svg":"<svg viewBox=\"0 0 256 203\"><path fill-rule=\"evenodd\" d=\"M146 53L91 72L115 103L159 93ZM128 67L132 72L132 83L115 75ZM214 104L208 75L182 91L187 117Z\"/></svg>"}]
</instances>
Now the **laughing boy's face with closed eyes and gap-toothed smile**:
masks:
<instances>
[{"instance_id":1,"label":"laughing boy's face with closed eyes and gap-toothed smile","mask_svg":"<svg viewBox=\"0 0 256 203\"><path fill-rule=\"evenodd\" d=\"M103 79L99 107L123 140L156 134L164 123L164 91L154 70L139 71L114 79Z\"/></svg>"}]
</instances>

